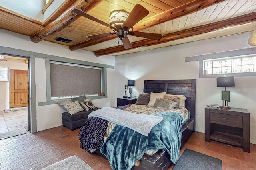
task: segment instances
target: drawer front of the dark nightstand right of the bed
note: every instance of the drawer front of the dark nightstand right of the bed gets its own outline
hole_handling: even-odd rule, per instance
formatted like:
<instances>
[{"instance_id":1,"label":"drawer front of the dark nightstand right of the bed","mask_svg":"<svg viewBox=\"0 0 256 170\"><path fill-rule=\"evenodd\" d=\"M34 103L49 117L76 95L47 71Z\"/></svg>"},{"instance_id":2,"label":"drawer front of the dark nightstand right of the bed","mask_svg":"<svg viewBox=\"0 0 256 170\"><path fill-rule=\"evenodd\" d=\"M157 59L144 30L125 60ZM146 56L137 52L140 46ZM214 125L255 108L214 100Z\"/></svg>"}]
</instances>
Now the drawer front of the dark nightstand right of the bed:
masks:
<instances>
[{"instance_id":1,"label":"drawer front of the dark nightstand right of the bed","mask_svg":"<svg viewBox=\"0 0 256 170\"><path fill-rule=\"evenodd\" d=\"M243 117L222 113L210 113L210 123L243 128Z\"/></svg>"}]
</instances>

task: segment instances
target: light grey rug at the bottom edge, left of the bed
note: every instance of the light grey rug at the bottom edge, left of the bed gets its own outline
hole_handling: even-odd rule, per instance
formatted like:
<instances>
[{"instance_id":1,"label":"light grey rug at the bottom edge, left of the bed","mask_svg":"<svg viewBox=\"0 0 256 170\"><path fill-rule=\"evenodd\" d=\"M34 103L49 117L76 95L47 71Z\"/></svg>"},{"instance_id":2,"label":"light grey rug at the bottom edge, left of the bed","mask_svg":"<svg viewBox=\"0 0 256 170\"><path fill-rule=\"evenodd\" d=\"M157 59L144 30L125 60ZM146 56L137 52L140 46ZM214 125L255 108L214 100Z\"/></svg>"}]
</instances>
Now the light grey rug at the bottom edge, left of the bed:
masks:
<instances>
[{"instance_id":1,"label":"light grey rug at the bottom edge, left of the bed","mask_svg":"<svg viewBox=\"0 0 256 170\"><path fill-rule=\"evenodd\" d=\"M64 160L56 162L42 170L93 170L88 164L78 158L76 155L70 156Z\"/></svg>"}]
</instances>

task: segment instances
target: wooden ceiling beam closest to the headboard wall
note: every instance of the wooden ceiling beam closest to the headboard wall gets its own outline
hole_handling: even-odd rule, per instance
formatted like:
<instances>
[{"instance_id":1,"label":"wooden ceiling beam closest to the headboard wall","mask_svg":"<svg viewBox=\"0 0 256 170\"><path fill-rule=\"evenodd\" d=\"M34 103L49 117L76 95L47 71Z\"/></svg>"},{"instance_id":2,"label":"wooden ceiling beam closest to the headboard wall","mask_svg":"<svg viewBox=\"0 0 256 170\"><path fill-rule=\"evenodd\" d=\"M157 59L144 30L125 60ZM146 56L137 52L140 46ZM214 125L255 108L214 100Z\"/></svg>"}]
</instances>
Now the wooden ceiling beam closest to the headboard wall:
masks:
<instances>
[{"instance_id":1,"label":"wooden ceiling beam closest to the headboard wall","mask_svg":"<svg viewBox=\"0 0 256 170\"><path fill-rule=\"evenodd\" d=\"M166 34L166 35L164 35L164 37L162 37L162 39L160 41L152 40L152 39L137 41L137 42L132 43L132 48L130 48L130 49L135 49L135 48L142 47L142 46L151 46L151 45L157 45L160 43L166 43L169 41L174 41L177 39L190 37L190 36L194 36L194 35L199 35L202 33L208 33L208 32L216 31L219 29L231 27L234 25L242 25L242 24L250 23L250 22L254 22L254 21L256 21L256 12L253 12L250 14L245 14L243 16L230 18L230 19L223 20L223 21L218 21L215 23L210 23L207 25L194 27L191 29L186 29L183 31L178 31L175 33ZM110 47L107 49L94 51L94 54L96 56L102 56L102 55L118 53L118 52L126 51L126 50L127 49L124 49L124 47L116 46L116 47Z\"/></svg>"}]
</instances>

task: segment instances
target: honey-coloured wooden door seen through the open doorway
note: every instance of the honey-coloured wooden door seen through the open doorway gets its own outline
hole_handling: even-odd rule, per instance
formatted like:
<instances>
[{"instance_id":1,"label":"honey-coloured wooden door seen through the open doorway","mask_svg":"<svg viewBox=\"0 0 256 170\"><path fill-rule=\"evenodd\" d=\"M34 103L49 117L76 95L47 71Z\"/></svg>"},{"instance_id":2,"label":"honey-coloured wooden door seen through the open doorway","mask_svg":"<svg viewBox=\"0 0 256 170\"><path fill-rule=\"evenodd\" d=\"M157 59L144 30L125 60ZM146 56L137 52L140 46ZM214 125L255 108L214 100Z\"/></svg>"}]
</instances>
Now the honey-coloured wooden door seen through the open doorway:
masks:
<instances>
[{"instance_id":1,"label":"honey-coloured wooden door seen through the open doorway","mask_svg":"<svg viewBox=\"0 0 256 170\"><path fill-rule=\"evenodd\" d=\"M10 69L10 108L28 106L28 71Z\"/></svg>"}]
</instances>

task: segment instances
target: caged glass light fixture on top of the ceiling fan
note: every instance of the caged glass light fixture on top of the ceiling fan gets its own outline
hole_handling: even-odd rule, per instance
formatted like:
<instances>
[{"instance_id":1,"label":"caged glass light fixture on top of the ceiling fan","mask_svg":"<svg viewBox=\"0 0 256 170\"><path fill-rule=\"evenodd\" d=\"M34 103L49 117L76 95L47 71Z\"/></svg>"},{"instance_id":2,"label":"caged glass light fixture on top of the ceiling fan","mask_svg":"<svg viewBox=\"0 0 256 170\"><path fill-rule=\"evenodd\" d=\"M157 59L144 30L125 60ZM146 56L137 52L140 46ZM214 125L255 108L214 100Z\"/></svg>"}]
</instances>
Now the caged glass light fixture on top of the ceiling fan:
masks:
<instances>
[{"instance_id":1,"label":"caged glass light fixture on top of the ceiling fan","mask_svg":"<svg viewBox=\"0 0 256 170\"><path fill-rule=\"evenodd\" d=\"M116 28L119 28L127 19L129 14L130 13L124 9L114 10L109 14L109 24Z\"/></svg>"}]
</instances>

